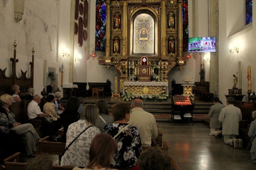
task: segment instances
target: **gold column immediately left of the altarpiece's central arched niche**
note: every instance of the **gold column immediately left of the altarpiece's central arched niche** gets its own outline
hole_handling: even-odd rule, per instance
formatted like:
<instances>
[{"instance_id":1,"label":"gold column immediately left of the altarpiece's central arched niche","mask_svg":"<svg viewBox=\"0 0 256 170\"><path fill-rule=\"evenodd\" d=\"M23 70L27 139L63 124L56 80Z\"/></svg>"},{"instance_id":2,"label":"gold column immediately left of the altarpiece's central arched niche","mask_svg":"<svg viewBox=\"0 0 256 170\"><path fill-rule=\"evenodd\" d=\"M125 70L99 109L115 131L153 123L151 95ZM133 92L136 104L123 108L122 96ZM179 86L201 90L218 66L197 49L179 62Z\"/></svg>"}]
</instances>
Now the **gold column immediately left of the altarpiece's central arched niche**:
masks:
<instances>
[{"instance_id":1,"label":"gold column immediately left of the altarpiece's central arched niche","mask_svg":"<svg viewBox=\"0 0 256 170\"><path fill-rule=\"evenodd\" d=\"M122 56L127 56L127 2L123 1L123 54Z\"/></svg>"}]
</instances>

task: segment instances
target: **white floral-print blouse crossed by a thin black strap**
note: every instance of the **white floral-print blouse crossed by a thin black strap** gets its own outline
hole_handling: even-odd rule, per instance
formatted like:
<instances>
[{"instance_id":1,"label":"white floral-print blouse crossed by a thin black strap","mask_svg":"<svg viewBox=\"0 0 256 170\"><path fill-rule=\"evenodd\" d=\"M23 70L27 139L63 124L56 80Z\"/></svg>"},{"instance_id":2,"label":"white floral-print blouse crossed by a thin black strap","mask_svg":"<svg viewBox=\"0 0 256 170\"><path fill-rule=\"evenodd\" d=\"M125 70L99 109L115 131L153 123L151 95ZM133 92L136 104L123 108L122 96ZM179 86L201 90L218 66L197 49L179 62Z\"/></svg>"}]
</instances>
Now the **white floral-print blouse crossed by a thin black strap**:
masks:
<instances>
[{"instance_id":1,"label":"white floral-print blouse crossed by a thin black strap","mask_svg":"<svg viewBox=\"0 0 256 170\"><path fill-rule=\"evenodd\" d=\"M79 135L86 127L90 126L90 123L86 123L85 120L79 120L69 125L67 131L66 147ZM89 148L93 138L100 134L100 129L95 126L89 127L81 134L65 152L63 156L64 166L79 166L86 167L89 164Z\"/></svg>"}]
</instances>

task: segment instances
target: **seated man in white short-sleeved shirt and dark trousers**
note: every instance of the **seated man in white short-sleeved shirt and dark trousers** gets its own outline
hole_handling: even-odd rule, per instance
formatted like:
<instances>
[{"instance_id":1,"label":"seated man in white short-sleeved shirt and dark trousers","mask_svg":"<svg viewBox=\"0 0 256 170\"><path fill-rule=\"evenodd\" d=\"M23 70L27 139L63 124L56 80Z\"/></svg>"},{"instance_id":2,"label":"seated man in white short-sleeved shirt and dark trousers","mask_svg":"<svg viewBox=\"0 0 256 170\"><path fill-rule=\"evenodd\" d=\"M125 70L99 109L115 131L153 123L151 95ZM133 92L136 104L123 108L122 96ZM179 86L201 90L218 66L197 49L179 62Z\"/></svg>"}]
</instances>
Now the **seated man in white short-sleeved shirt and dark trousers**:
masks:
<instances>
[{"instance_id":1,"label":"seated man in white short-sleeved shirt and dark trousers","mask_svg":"<svg viewBox=\"0 0 256 170\"><path fill-rule=\"evenodd\" d=\"M29 120L42 120L42 135L43 136L52 136L54 135L54 123L52 123L48 116L49 113L41 112L38 104L41 102L41 97L36 94L33 97L33 100L28 104L27 114Z\"/></svg>"}]
</instances>

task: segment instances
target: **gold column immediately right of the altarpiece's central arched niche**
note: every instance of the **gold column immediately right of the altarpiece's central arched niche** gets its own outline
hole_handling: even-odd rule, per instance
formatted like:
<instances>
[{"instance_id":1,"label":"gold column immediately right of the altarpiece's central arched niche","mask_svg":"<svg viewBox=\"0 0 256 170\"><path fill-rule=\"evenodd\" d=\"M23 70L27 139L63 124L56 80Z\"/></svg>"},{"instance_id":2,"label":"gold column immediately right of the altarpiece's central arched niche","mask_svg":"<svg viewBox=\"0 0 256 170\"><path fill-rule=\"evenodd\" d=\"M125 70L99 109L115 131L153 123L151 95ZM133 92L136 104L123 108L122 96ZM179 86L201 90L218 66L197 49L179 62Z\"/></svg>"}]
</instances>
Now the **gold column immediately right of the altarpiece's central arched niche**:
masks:
<instances>
[{"instance_id":1,"label":"gold column immediately right of the altarpiece's central arched niche","mask_svg":"<svg viewBox=\"0 0 256 170\"><path fill-rule=\"evenodd\" d=\"M161 2L161 55L166 56L166 1Z\"/></svg>"}]
</instances>

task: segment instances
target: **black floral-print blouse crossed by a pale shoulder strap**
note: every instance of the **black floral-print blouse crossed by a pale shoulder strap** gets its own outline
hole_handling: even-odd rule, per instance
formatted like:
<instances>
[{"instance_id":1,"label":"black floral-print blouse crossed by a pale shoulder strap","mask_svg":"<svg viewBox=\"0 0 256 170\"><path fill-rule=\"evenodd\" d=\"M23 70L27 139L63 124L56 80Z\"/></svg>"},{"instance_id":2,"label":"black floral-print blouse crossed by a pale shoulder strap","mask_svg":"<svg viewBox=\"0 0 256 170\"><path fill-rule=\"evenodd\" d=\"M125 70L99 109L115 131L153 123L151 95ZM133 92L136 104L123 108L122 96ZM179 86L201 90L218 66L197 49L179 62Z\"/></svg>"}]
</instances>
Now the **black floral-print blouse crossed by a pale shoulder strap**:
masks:
<instances>
[{"instance_id":1,"label":"black floral-print blouse crossed by a pale shoulder strap","mask_svg":"<svg viewBox=\"0 0 256 170\"><path fill-rule=\"evenodd\" d=\"M103 133L114 137L127 123L112 123L104 127ZM128 126L116 138L117 151L111 166L118 168L132 168L137 166L137 158L142 151L139 130L135 126Z\"/></svg>"}]
</instances>

